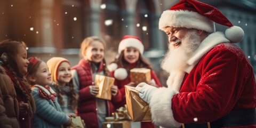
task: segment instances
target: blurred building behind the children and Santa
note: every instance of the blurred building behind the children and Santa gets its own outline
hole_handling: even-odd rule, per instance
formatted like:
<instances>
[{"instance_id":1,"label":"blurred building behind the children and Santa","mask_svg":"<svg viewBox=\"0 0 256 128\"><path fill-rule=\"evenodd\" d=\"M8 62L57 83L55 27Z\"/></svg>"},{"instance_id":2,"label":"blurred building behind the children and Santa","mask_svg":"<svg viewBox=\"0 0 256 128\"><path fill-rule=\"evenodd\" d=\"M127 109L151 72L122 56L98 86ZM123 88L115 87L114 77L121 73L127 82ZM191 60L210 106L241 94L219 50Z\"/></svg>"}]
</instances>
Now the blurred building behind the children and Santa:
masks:
<instances>
[{"instance_id":1,"label":"blurred building behind the children and Santa","mask_svg":"<svg viewBox=\"0 0 256 128\"><path fill-rule=\"evenodd\" d=\"M200 0L199 0L200 1ZM165 85L167 75L159 68L167 49L167 36L158 29L164 10L176 0L0 0L0 40L24 41L28 56L44 61L67 58L74 66L79 61L79 46L88 36L100 36L107 44L107 63L114 60L124 35L141 38L144 57ZM256 73L256 1L201 0L217 7L233 25L244 29L237 43ZM217 30L227 27L216 25Z\"/></svg>"}]
</instances>

